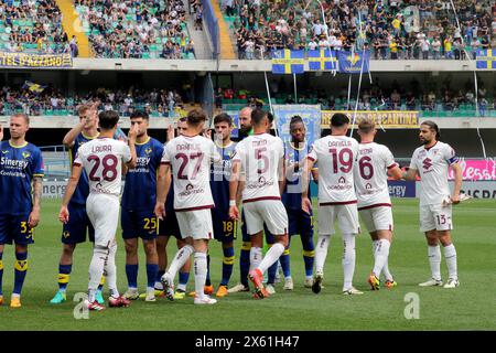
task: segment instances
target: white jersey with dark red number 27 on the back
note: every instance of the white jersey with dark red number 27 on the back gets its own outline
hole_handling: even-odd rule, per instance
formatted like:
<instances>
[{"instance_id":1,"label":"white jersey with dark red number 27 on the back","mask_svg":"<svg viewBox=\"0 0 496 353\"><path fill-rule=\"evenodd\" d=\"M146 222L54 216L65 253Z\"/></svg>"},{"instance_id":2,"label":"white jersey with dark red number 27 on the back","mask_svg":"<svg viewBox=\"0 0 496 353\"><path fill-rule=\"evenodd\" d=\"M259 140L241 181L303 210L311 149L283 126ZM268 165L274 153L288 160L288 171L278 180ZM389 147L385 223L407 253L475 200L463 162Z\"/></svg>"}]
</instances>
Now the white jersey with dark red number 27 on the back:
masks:
<instances>
[{"instance_id":1,"label":"white jersey with dark red number 27 on the back","mask_svg":"<svg viewBox=\"0 0 496 353\"><path fill-rule=\"evenodd\" d=\"M214 207L211 163L219 160L214 142L200 135L180 136L165 145L161 163L172 167L175 211Z\"/></svg>"}]
</instances>

